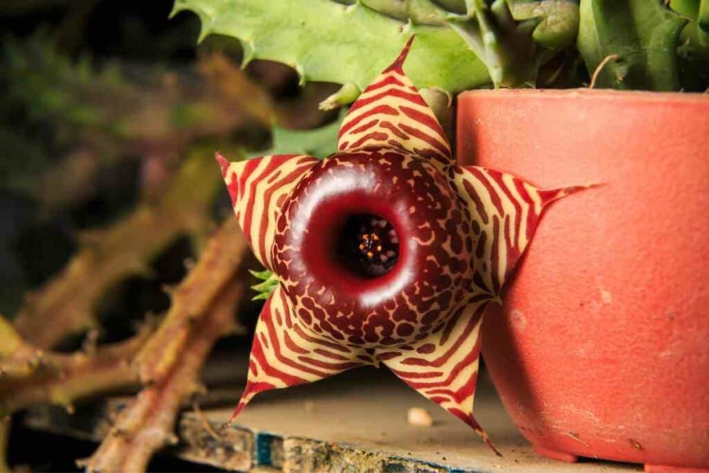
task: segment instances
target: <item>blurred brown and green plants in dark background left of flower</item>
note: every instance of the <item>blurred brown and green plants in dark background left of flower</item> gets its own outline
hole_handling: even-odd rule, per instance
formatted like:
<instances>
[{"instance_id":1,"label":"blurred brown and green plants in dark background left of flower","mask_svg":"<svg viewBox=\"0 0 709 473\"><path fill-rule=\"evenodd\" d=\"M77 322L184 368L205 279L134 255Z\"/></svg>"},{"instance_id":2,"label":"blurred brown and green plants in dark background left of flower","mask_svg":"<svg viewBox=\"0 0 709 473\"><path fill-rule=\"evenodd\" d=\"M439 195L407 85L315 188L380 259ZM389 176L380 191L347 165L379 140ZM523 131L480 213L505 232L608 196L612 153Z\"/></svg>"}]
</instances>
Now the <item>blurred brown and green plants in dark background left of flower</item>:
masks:
<instances>
[{"instance_id":1,"label":"blurred brown and green plants in dark background left of flower","mask_svg":"<svg viewBox=\"0 0 709 473\"><path fill-rule=\"evenodd\" d=\"M272 62L242 69L238 42L197 47L198 19L171 9L0 5L0 471L76 469L81 449L67 457L9 416L116 389L138 396L86 468L147 468L212 347L247 349L238 334L259 308L242 297L255 282L242 266L257 267L213 152L238 159L269 148L274 123L337 119L318 111L336 87L298 87ZM162 435L138 441L147 431Z\"/></svg>"}]
</instances>

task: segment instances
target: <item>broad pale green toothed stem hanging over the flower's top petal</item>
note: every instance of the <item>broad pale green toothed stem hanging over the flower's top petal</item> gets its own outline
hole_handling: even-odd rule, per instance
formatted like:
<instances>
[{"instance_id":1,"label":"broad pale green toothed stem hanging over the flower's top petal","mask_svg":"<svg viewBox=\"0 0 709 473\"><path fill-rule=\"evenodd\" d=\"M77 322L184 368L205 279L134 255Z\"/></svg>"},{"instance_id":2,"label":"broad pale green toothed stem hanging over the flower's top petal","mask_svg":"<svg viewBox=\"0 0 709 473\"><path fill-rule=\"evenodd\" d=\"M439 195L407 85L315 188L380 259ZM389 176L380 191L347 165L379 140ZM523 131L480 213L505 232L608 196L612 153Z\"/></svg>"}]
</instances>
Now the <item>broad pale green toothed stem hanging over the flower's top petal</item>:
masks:
<instances>
[{"instance_id":1,"label":"broad pale green toothed stem hanging over the flower's top petal","mask_svg":"<svg viewBox=\"0 0 709 473\"><path fill-rule=\"evenodd\" d=\"M483 62L451 28L393 18L362 2L176 0L172 14L180 11L199 16L201 38L238 38L245 57L289 65L302 82L352 83L364 90L415 34L405 68L417 87L454 94L490 83Z\"/></svg>"}]
</instances>

